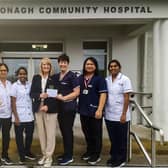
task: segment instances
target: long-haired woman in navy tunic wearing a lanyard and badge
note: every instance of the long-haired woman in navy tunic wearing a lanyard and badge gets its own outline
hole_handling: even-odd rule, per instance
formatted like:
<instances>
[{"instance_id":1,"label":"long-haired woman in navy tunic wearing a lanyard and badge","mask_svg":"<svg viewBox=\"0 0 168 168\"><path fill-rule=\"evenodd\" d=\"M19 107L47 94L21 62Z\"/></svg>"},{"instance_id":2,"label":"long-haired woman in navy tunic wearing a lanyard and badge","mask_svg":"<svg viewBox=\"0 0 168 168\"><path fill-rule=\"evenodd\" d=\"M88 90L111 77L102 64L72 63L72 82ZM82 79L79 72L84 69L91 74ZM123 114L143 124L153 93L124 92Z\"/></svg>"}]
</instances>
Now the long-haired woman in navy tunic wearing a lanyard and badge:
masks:
<instances>
[{"instance_id":1,"label":"long-haired woman in navy tunic wearing a lanyard and badge","mask_svg":"<svg viewBox=\"0 0 168 168\"><path fill-rule=\"evenodd\" d=\"M79 113L87 149L82 159L94 165L101 160L102 114L107 96L105 79L98 74L98 63L93 57L84 61L79 77Z\"/></svg>"}]
</instances>

